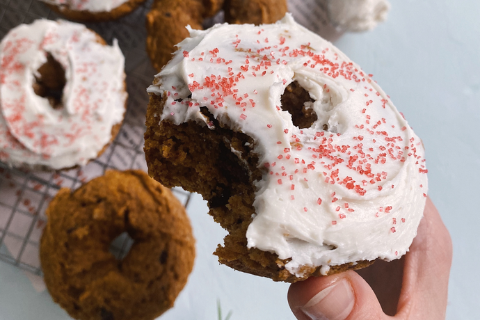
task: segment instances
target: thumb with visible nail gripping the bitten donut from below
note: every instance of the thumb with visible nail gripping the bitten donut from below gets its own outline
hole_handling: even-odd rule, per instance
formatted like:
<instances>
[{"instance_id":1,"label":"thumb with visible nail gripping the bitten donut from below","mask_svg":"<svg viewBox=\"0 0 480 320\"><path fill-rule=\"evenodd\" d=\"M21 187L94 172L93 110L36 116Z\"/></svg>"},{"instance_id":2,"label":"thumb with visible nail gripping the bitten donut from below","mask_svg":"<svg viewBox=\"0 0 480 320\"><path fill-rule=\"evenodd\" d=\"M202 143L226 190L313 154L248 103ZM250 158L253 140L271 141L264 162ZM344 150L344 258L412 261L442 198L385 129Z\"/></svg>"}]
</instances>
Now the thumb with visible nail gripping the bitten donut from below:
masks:
<instances>
[{"instance_id":1,"label":"thumb with visible nail gripping the bitten donut from below","mask_svg":"<svg viewBox=\"0 0 480 320\"><path fill-rule=\"evenodd\" d=\"M354 271L296 282L290 286L288 301L298 320L390 318L371 287Z\"/></svg>"}]
</instances>

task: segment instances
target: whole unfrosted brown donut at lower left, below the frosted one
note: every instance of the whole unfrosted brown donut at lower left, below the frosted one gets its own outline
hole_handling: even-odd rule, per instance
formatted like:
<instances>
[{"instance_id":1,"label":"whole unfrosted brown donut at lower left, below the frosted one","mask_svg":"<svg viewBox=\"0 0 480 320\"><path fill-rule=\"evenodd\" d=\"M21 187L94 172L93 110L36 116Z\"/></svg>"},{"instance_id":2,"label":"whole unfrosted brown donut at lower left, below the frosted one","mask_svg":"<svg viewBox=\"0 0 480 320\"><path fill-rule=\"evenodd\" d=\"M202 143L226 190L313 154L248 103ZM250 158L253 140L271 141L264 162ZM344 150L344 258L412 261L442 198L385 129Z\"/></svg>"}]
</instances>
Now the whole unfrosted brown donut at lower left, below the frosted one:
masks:
<instances>
[{"instance_id":1,"label":"whole unfrosted brown donut at lower left, below the frosted one","mask_svg":"<svg viewBox=\"0 0 480 320\"><path fill-rule=\"evenodd\" d=\"M45 284L74 319L152 320L173 306L192 270L195 240L184 207L140 170L61 189L47 218ZM122 232L134 243L119 261L109 246Z\"/></svg>"}]
</instances>

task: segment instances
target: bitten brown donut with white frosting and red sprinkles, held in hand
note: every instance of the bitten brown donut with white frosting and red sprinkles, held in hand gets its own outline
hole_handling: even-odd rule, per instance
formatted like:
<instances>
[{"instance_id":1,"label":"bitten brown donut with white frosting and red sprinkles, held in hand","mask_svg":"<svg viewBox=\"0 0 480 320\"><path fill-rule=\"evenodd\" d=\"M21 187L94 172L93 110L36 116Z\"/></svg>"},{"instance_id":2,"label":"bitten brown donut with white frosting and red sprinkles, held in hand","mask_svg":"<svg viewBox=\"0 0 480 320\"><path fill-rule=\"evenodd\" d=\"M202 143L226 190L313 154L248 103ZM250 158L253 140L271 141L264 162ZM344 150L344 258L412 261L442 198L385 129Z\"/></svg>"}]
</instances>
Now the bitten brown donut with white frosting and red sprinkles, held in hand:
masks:
<instances>
[{"instance_id":1,"label":"bitten brown donut with white frosting and red sprinkles, held in hand","mask_svg":"<svg viewBox=\"0 0 480 320\"><path fill-rule=\"evenodd\" d=\"M371 75L290 15L190 33L148 88L145 154L208 201L219 261L294 282L404 255L424 148Z\"/></svg>"}]
</instances>

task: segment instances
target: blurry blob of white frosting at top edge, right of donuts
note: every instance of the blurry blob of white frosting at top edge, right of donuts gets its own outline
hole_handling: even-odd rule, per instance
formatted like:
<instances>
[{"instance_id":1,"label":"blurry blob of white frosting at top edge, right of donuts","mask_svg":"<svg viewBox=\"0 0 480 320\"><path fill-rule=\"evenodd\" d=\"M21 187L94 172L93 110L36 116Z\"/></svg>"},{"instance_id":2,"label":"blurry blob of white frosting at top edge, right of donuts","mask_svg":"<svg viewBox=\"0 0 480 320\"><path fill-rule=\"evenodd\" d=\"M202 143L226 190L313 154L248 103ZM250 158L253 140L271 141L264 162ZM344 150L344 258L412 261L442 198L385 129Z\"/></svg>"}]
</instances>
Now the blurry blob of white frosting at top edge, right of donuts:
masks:
<instances>
[{"instance_id":1,"label":"blurry blob of white frosting at top edge, right of donuts","mask_svg":"<svg viewBox=\"0 0 480 320\"><path fill-rule=\"evenodd\" d=\"M328 0L330 22L343 31L367 31L387 19L387 0Z\"/></svg>"}]
</instances>

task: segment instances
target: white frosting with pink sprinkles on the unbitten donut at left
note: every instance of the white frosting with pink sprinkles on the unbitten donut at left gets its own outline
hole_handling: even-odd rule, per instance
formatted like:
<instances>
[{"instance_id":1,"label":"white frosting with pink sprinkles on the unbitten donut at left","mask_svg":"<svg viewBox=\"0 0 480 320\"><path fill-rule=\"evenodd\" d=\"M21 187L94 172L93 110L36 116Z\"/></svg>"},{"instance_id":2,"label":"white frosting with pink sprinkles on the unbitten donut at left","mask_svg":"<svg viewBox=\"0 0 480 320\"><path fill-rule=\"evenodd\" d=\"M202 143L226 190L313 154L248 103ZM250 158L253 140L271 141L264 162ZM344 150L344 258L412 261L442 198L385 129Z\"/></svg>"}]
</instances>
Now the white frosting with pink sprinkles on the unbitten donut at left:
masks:
<instances>
[{"instance_id":1,"label":"white frosting with pink sprinkles on the unbitten donut at left","mask_svg":"<svg viewBox=\"0 0 480 320\"><path fill-rule=\"evenodd\" d=\"M125 113L124 57L81 24L36 20L0 42L0 160L53 169L83 165L111 140ZM65 70L63 108L35 95L47 54Z\"/></svg>"}]
</instances>

